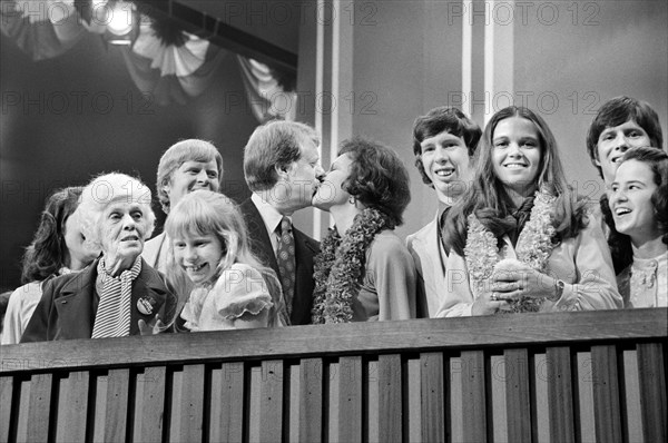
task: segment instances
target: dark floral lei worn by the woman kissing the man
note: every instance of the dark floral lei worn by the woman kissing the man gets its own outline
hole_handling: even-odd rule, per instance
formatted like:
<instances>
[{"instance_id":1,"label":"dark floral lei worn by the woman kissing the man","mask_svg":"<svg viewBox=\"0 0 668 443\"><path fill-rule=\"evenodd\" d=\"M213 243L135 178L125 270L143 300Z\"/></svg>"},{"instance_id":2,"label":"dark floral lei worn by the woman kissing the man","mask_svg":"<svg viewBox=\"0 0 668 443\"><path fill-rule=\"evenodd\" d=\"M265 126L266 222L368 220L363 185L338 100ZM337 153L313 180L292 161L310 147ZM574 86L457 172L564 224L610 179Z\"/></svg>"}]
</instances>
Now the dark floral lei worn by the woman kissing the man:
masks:
<instances>
[{"instance_id":1,"label":"dark floral lei worn by the woman kissing the man","mask_svg":"<svg viewBox=\"0 0 668 443\"><path fill-rule=\"evenodd\" d=\"M330 229L314 263L313 324L353 319L352 303L360 293L366 249L377 233L392 227L390 217L377 209L365 208L343 239L336 229Z\"/></svg>"}]
</instances>

